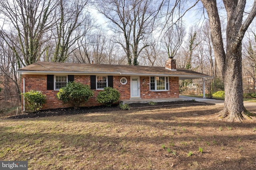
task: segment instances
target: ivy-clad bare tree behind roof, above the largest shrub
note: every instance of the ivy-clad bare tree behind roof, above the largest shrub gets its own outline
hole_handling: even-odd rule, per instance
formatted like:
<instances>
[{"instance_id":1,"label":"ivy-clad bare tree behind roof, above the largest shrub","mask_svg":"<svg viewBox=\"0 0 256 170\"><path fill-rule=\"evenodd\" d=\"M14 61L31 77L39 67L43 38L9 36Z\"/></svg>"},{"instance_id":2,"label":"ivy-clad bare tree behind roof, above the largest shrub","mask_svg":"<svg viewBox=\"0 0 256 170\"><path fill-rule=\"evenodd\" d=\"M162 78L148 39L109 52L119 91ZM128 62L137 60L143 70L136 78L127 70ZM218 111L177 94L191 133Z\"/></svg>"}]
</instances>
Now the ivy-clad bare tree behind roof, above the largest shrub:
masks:
<instances>
[{"instance_id":1,"label":"ivy-clad bare tree behind roof, above the largest shrub","mask_svg":"<svg viewBox=\"0 0 256 170\"><path fill-rule=\"evenodd\" d=\"M53 34L56 37L56 48L54 52L54 62L64 62L75 49L70 50L84 33L78 31L84 20L87 20L88 13L85 7L89 0L60 0L58 4L58 14L56 15L56 29Z\"/></svg>"}]
</instances>

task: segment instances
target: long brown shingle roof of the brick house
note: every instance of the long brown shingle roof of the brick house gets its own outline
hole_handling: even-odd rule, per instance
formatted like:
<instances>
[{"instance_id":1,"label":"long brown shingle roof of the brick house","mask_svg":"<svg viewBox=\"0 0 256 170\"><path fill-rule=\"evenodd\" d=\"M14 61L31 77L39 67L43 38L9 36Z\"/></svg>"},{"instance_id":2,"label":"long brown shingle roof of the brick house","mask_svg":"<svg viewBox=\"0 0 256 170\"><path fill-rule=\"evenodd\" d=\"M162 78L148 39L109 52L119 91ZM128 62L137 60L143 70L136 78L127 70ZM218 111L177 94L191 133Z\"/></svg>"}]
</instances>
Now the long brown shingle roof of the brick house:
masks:
<instances>
[{"instance_id":1,"label":"long brown shingle roof of the brick house","mask_svg":"<svg viewBox=\"0 0 256 170\"><path fill-rule=\"evenodd\" d=\"M48 63L37 62L18 69L22 74L108 74L108 75L137 75L137 76L175 76L180 79L192 79L211 77L206 74L177 68L176 71L168 70L160 66L130 66L130 65L110 65L110 64L78 64L78 63Z\"/></svg>"}]
</instances>

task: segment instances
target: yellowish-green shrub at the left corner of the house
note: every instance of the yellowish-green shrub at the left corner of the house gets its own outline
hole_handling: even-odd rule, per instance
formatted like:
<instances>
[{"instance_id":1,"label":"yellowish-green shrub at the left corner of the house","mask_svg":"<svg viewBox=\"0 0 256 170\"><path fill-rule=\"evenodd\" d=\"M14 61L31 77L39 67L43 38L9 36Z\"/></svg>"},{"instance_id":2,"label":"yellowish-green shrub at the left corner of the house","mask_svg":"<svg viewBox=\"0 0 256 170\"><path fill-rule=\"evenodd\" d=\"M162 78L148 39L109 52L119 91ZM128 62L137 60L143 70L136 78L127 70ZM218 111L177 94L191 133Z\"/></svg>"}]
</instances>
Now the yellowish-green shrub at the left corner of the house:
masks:
<instances>
[{"instance_id":1,"label":"yellowish-green shrub at the left corner of the house","mask_svg":"<svg viewBox=\"0 0 256 170\"><path fill-rule=\"evenodd\" d=\"M29 92L23 93L25 100L25 110L27 112L35 112L42 109L43 104L46 102L46 95L40 91L30 90Z\"/></svg>"}]
</instances>

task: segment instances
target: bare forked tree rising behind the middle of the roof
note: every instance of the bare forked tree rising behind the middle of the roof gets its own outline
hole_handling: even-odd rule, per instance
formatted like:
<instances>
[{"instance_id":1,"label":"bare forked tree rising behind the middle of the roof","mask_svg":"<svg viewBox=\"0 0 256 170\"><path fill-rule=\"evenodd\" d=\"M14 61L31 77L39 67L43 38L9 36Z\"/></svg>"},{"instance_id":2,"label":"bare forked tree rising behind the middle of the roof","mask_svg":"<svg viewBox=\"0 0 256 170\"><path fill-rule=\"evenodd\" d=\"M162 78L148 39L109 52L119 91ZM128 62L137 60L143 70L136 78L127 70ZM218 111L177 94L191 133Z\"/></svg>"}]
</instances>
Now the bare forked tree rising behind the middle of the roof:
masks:
<instances>
[{"instance_id":1,"label":"bare forked tree rising behind the middle of the roof","mask_svg":"<svg viewBox=\"0 0 256 170\"><path fill-rule=\"evenodd\" d=\"M141 51L148 46L141 41L151 34L162 7L157 0L103 0L97 4L98 11L111 21L112 31L121 33L123 40L117 41L124 49L128 64L138 65Z\"/></svg>"}]
</instances>

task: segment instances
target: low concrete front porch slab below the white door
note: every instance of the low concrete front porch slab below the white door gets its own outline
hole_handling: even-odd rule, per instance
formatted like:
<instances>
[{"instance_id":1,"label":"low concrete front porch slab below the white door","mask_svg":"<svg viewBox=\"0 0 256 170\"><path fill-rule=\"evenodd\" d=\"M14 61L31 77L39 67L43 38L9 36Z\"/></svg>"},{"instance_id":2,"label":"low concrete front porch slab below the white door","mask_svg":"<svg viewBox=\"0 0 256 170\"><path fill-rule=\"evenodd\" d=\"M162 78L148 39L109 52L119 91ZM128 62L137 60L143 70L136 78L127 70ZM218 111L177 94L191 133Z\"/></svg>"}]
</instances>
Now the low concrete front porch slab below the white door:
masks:
<instances>
[{"instance_id":1,"label":"low concrete front porch slab below the white door","mask_svg":"<svg viewBox=\"0 0 256 170\"><path fill-rule=\"evenodd\" d=\"M178 101L190 101L190 98L155 98L155 99L141 99L141 98L134 98L130 100L120 100L120 104L132 104L132 103L148 103L148 102L178 102Z\"/></svg>"}]
</instances>

